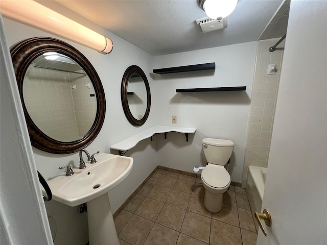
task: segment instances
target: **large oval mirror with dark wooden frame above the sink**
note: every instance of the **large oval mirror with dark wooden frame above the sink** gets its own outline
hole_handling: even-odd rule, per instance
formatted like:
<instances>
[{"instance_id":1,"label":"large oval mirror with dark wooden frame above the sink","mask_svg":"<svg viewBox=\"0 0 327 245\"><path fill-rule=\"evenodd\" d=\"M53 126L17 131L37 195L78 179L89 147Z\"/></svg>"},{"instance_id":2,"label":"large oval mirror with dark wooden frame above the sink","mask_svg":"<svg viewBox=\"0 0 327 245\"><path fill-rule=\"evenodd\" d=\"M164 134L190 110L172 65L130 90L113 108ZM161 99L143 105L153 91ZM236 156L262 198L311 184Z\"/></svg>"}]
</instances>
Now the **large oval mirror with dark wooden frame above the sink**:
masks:
<instances>
[{"instance_id":1,"label":"large oval mirror with dark wooden frame above the sink","mask_svg":"<svg viewBox=\"0 0 327 245\"><path fill-rule=\"evenodd\" d=\"M105 95L86 57L48 37L18 43L11 56L32 145L68 154L90 144L103 125Z\"/></svg>"}]
</instances>

